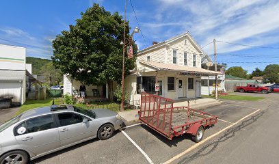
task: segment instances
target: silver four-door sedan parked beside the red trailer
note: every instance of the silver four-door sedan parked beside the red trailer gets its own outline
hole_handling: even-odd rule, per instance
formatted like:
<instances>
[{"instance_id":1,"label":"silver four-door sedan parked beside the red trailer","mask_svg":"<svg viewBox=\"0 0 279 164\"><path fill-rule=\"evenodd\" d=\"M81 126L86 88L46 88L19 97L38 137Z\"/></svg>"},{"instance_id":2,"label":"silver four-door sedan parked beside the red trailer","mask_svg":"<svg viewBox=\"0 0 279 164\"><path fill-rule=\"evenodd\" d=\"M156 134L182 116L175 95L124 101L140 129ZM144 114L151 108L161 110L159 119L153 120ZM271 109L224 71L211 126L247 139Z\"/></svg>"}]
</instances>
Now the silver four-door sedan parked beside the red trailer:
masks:
<instances>
[{"instance_id":1,"label":"silver four-door sedan parked beside the red trailer","mask_svg":"<svg viewBox=\"0 0 279 164\"><path fill-rule=\"evenodd\" d=\"M0 126L0 164L28 163L45 154L98 137L108 139L122 127L108 109L72 106L32 109Z\"/></svg>"}]
</instances>

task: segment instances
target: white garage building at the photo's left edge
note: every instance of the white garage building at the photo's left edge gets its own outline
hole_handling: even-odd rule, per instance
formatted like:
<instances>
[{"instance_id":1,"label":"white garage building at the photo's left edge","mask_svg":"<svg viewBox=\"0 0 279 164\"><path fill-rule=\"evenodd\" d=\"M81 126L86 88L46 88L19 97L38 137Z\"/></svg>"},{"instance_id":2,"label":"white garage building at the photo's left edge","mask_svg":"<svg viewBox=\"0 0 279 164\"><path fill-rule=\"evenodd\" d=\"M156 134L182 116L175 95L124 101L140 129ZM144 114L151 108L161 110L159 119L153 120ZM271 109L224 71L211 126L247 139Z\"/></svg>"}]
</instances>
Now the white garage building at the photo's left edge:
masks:
<instances>
[{"instance_id":1,"label":"white garage building at the photo's left edge","mask_svg":"<svg viewBox=\"0 0 279 164\"><path fill-rule=\"evenodd\" d=\"M26 99L27 75L31 73L24 47L0 44L0 98L11 96L13 104L22 105Z\"/></svg>"}]
</instances>

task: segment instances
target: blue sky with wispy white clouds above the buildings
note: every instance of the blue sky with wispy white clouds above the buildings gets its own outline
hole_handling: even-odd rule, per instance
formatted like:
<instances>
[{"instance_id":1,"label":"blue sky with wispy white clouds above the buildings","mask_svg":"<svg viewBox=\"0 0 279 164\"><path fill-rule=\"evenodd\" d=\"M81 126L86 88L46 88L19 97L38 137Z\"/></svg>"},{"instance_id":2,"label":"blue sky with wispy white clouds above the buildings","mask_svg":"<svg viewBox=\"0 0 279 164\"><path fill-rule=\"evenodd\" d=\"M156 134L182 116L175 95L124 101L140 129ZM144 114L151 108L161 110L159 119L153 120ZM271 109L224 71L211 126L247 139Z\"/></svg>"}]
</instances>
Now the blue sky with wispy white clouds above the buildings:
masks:
<instances>
[{"instance_id":1,"label":"blue sky with wispy white clouds above the buildings","mask_svg":"<svg viewBox=\"0 0 279 164\"><path fill-rule=\"evenodd\" d=\"M131 0L142 33L139 49L189 31L200 46L216 40L279 47L279 1ZM0 5L0 43L27 47L27 56L50 58L51 41L93 3L124 14L124 0L3 0ZM128 0L127 19L137 22ZM213 54L213 44L204 47ZM248 72L279 64L279 49L263 49L217 42L217 61L242 66ZM232 63L232 62L263 63ZM276 62L277 61L277 62Z\"/></svg>"}]
</instances>

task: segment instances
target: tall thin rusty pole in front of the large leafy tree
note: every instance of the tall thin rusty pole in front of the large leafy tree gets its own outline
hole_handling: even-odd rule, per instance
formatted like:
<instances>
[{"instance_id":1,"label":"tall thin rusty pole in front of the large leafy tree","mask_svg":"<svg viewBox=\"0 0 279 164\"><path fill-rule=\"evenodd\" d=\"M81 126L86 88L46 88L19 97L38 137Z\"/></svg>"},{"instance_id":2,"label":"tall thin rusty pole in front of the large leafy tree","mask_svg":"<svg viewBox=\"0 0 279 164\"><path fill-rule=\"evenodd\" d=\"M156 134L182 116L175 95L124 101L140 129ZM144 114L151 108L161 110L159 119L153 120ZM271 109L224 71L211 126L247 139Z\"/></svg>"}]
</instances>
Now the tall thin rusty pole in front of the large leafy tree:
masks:
<instances>
[{"instance_id":1,"label":"tall thin rusty pole in front of the large leafy tree","mask_svg":"<svg viewBox=\"0 0 279 164\"><path fill-rule=\"evenodd\" d=\"M123 33L123 61L122 61L122 92L121 92L121 109L120 111L124 111L124 63L125 63L125 29L126 29L126 6L127 0L125 0L124 7L124 33Z\"/></svg>"}]
</instances>

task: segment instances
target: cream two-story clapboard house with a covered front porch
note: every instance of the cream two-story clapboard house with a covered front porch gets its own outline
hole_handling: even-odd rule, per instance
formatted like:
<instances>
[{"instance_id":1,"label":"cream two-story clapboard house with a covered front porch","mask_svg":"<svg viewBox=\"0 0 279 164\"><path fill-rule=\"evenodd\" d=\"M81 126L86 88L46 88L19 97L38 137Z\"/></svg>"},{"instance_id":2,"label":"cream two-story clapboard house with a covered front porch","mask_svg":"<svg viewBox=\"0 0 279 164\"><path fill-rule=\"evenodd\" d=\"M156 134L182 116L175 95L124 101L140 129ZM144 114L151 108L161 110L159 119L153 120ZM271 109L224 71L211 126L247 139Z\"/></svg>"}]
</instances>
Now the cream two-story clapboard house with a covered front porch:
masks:
<instances>
[{"instance_id":1,"label":"cream two-story clapboard house with a covered front porch","mask_svg":"<svg viewBox=\"0 0 279 164\"><path fill-rule=\"evenodd\" d=\"M125 91L130 100L139 100L142 91L174 100L200 97L201 77L222 74L201 68L203 54L189 32L153 42L137 53L136 67L124 82Z\"/></svg>"}]
</instances>

